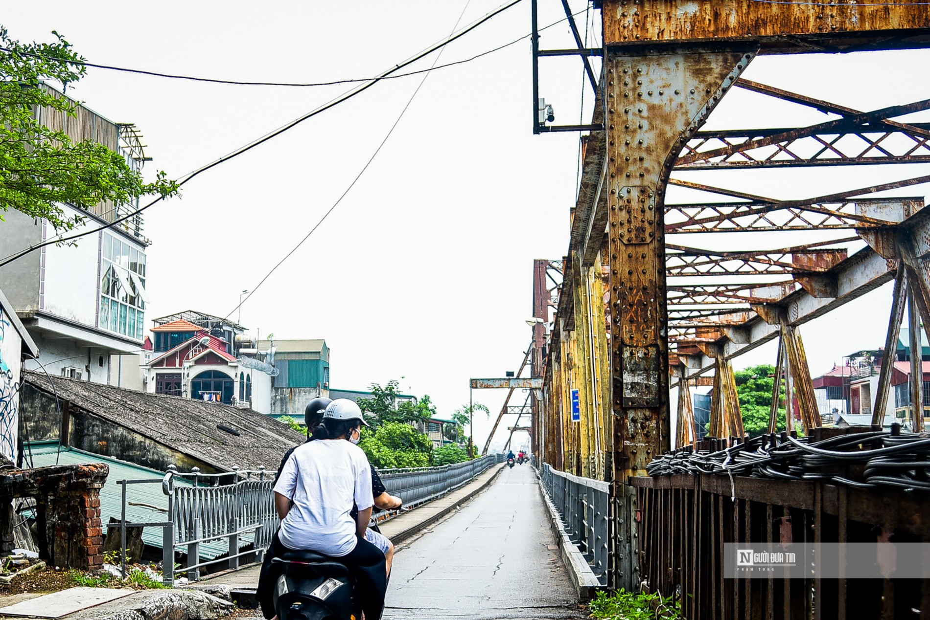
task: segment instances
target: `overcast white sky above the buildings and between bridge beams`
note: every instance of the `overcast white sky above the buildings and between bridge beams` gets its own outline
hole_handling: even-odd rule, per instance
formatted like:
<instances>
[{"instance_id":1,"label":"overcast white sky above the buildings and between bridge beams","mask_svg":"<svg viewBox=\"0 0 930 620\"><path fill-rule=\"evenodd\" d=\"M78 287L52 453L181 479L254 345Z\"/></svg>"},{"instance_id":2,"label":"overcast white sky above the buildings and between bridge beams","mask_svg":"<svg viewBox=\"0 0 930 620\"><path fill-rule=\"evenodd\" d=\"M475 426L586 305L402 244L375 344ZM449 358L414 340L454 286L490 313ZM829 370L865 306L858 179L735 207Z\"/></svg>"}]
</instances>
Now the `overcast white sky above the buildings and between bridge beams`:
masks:
<instances>
[{"instance_id":1,"label":"overcast white sky above the buildings and between bridge beams","mask_svg":"<svg viewBox=\"0 0 930 620\"><path fill-rule=\"evenodd\" d=\"M384 71L499 7L501 0L380 2L7 3L13 38L64 34L86 59L163 73L250 81L325 81ZM585 2L572 2L583 11ZM591 12L592 18L599 13ZM564 17L540 0L540 24ZM585 14L578 16L582 30ZM529 32L529 3L448 46L440 64ZM591 24L600 40L600 27ZM571 45L567 27L543 46ZM433 57L412 67L426 68ZM861 110L930 98L930 52L754 60L746 76ZM531 133L527 40L431 73L391 139L311 240L242 310L278 338L324 337L332 386L402 379L442 416L469 400L471 376L515 370L529 341L532 261L567 248L578 135ZM578 122L578 59L544 59L541 95L559 123ZM225 315L345 191L403 109L419 77L385 81L185 186L146 214L147 319L196 309ZM153 162L177 178L332 99L347 86L223 86L91 69L69 89L115 122L135 123ZM590 113L591 90L585 92ZM737 91L709 126L800 126L832 118ZM923 119L922 119L923 120ZM930 166L711 172L703 182L801 198L928 174ZM696 173L677 174L696 179ZM926 193L923 186L897 195ZM670 202L696 195L670 191ZM703 197L703 198L706 198ZM846 233L833 235L846 236ZM810 235L683 236L721 248L785 247ZM813 239L811 239L813 240ZM889 293L873 292L803 328L815 376L857 349L883 344ZM234 315L233 315L234 318ZM151 323L150 323L151 325ZM736 361L774 363L774 347ZM492 411L504 392L475 393ZM522 402L522 397L521 401ZM476 423L483 441L490 421Z\"/></svg>"}]
</instances>

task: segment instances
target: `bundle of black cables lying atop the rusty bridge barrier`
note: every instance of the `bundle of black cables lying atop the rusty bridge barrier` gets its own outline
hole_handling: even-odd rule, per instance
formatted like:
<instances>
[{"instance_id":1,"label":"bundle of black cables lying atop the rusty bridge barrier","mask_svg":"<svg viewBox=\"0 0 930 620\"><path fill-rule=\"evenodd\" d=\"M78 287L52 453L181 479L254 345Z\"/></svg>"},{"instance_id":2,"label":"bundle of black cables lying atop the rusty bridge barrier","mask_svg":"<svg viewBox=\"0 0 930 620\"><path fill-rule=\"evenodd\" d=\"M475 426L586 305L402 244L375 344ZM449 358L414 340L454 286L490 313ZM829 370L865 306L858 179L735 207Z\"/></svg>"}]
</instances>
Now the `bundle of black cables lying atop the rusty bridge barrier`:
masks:
<instances>
[{"instance_id":1,"label":"bundle of black cables lying atop the rusty bridge barrier","mask_svg":"<svg viewBox=\"0 0 930 620\"><path fill-rule=\"evenodd\" d=\"M706 473L930 491L930 435L901 435L896 427L819 442L788 433L737 440L733 445L720 440L724 445L720 450L696 451L687 446L658 456L646 471L654 477Z\"/></svg>"}]
</instances>

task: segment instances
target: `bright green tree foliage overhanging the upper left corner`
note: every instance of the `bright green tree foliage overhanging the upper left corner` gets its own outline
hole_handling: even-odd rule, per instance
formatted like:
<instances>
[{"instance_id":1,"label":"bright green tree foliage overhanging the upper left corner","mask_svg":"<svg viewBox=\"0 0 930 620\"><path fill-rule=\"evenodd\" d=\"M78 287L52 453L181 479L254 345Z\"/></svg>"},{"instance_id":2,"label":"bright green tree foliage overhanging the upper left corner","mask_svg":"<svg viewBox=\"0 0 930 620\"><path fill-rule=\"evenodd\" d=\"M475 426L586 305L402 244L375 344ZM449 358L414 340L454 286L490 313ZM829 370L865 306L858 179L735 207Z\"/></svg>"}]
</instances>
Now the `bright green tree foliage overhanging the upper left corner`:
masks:
<instances>
[{"instance_id":1,"label":"bright green tree foliage overhanging the upper left corner","mask_svg":"<svg viewBox=\"0 0 930 620\"><path fill-rule=\"evenodd\" d=\"M36 108L74 116L76 104L40 87L43 81L67 87L86 68L59 33L54 43L22 44L0 27L0 213L15 209L45 218L56 231L69 231L85 218L68 217L59 203L90 210L104 201L126 204L143 195L178 191L165 173L146 183L126 159L93 141L73 142L33 117ZM0 217L2 219L2 217Z\"/></svg>"}]
</instances>

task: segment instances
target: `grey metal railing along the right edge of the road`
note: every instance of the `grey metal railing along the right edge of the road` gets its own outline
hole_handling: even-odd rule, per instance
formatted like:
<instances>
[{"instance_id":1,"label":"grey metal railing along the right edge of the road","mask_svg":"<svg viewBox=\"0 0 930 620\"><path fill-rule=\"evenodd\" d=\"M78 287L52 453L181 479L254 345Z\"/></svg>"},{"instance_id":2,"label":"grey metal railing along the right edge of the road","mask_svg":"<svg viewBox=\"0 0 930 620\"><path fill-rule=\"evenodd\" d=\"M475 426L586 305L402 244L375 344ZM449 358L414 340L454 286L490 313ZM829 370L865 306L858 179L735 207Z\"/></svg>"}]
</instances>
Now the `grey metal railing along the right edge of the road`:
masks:
<instances>
[{"instance_id":1,"label":"grey metal railing along the right edge of the road","mask_svg":"<svg viewBox=\"0 0 930 620\"><path fill-rule=\"evenodd\" d=\"M539 474L565 532L584 554L601 585L606 586L610 484L557 471L548 463L543 463Z\"/></svg>"}]
</instances>

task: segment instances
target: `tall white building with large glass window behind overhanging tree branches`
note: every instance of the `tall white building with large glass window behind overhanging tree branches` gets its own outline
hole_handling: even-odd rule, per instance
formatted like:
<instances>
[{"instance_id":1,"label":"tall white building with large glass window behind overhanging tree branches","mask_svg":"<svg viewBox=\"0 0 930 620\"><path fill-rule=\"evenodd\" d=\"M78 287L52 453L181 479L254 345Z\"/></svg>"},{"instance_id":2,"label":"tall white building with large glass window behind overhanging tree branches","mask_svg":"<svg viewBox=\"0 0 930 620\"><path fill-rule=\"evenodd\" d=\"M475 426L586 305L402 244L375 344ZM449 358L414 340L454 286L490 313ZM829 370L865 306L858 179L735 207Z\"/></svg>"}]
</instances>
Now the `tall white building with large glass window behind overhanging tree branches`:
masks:
<instances>
[{"instance_id":1,"label":"tall white building with large glass window behind overhanging tree branches","mask_svg":"<svg viewBox=\"0 0 930 620\"><path fill-rule=\"evenodd\" d=\"M63 94L51 86L39 87ZM38 109L39 122L65 132L73 141L92 140L126 157L140 170L149 158L135 125L116 124L86 106L73 117ZM101 203L88 211L60 204L64 218L83 218L74 232L123 218L138 207ZM46 220L10 210L0 222L0 256L8 256L55 236ZM76 244L50 244L0 267L0 287L40 350L37 360L50 375L106 383L111 356L138 352L145 310L146 247L140 215ZM34 367L39 367L34 365Z\"/></svg>"}]
</instances>

